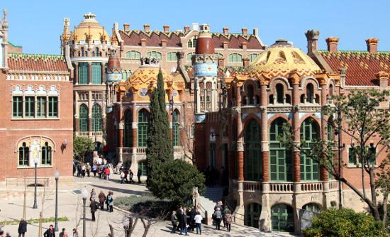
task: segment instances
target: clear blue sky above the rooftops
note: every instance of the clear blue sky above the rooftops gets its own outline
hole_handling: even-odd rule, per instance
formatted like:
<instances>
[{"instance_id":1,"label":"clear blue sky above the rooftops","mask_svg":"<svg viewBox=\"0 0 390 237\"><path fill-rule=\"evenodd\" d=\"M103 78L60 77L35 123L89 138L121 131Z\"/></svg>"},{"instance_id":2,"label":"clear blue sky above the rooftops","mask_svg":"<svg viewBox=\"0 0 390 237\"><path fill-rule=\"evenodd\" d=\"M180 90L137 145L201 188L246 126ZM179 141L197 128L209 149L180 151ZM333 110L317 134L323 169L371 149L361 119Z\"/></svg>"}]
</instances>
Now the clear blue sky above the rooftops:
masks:
<instances>
[{"instance_id":1,"label":"clear blue sky above the rooftops","mask_svg":"<svg viewBox=\"0 0 390 237\"><path fill-rule=\"evenodd\" d=\"M367 50L365 39L379 38L378 50L390 51L390 1L374 0L5 0L0 8L7 9L9 40L22 45L23 53L60 53L63 18L70 18L73 29L84 13L96 19L111 35L113 23L119 28L130 23L131 29L183 29L191 23L208 23L211 31L230 33L241 28L252 32L259 29L265 45L285 38L306 52L308 29L318 29L318 48L326 49L325 38L340 38L339 50ZM2 18L2 16L1 16Z\"/></svg>"}]
</instances>

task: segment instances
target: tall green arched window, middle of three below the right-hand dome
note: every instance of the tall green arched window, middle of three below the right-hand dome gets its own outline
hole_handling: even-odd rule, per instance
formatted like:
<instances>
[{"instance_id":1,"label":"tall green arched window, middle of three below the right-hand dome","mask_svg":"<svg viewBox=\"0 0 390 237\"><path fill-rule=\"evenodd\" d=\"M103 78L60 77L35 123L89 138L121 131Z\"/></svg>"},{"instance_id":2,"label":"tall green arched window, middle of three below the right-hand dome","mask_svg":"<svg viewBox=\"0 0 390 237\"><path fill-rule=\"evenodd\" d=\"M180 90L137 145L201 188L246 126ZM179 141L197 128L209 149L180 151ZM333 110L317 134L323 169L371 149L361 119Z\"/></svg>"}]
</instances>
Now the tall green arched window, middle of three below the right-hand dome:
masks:
<instances>
[{"instance_id":1,"label":"tall green arched window, middle of three below the right-hand dome","mask_svg":"<svg viewBox=\"0 0 390 237\"><path fill-rule=\"evenodd\" d=\"M292 182L291 150L286 148L279 140L284 137L283 124L287 123L283 118L272 121L269 128L269 176L271 181Z\"/></svg>"}]
</instances>

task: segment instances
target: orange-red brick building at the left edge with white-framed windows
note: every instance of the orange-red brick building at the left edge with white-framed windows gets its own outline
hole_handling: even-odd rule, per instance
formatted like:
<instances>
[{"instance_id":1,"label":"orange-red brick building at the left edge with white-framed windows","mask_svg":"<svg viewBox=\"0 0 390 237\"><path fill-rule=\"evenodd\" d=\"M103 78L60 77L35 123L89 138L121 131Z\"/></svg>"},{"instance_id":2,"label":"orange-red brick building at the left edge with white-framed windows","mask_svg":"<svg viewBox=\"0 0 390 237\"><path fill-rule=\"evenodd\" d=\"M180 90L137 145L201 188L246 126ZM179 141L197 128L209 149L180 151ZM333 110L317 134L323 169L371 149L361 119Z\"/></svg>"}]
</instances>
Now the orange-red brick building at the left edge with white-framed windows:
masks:
<instances>
[{"instance_id":1,"label":"orange-red brick building at the left edge with white-framed windows","mask_svg":"<svg viewBox=\"0 0 390 237\"><path fill-rule=\"evenodd\" d=\"M15 184L34 177L38 161L41 183L72 176L72 82L61 55L22 53L8 41L6 11L0 28L0 181ZM28 182L33 182L29 179ZM23 182L18 182L23 183ZM28 183L30 184L30 183Z\"/></svg>"}]
</instances>

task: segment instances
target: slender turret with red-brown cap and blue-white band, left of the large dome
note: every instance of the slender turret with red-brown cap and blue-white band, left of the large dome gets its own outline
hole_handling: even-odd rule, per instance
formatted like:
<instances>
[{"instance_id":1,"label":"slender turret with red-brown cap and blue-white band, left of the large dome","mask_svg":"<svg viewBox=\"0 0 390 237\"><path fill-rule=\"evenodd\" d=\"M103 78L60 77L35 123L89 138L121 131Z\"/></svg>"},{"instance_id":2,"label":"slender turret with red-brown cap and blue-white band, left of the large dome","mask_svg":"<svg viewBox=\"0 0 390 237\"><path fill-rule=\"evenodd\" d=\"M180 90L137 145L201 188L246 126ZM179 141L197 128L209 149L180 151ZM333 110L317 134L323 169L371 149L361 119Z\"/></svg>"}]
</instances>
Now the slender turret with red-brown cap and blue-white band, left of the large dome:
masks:
<instances>
[{"instance_id":1,"label":"slender turret with red-brown cap and blue-white band, left of the large dome","mask_svg":"<svg viewBox=\"0 0 390 237\"><path fill-rule=\"evenodd\" d=\"M192 58L197 122L204 120L206 112L218 111L217 56L214 54L210 26L204 24L200 29Z\"/></svg>"}]
</instances>

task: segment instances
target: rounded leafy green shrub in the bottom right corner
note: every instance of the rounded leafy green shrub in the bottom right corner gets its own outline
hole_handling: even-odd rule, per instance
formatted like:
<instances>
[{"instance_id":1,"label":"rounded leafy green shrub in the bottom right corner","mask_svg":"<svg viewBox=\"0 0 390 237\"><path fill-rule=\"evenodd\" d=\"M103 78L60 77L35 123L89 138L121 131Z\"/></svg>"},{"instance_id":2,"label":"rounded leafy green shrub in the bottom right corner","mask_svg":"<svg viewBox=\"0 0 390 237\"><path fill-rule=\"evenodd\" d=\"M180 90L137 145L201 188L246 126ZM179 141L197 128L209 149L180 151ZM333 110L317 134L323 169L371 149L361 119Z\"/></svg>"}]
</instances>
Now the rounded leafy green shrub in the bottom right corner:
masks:
<instances>
[{"instance_id":1,"label":"rounded leafy green shrub in the bottom right corner","mask_svg":"<svg viewBox=\"0 0 390 237\"><path fill-rule=\"evenodd\" d=\"M306 237L385 237L382 224L372 216L351 209L328 209L313 217Z\"/></svg>"}]
</instances>

